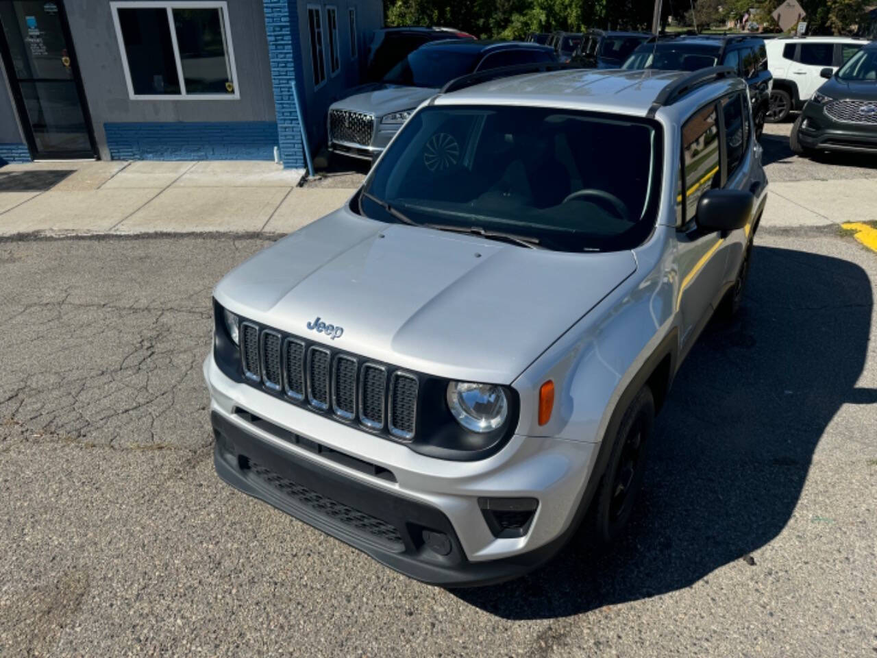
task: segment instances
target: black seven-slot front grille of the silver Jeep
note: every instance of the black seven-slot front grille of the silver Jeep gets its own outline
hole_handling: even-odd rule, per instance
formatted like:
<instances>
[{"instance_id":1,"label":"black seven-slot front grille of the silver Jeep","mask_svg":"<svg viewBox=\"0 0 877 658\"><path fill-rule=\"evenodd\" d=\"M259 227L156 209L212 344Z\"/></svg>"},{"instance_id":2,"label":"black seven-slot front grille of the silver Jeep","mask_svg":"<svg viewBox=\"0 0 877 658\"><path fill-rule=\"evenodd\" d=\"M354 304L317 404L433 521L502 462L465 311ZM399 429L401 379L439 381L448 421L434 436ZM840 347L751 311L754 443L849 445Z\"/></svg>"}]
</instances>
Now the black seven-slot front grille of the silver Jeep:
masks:
<instances>
[{"instance_id":1,"label":"black seven-slot front grille of the silver Jeep","mask_svg":"<svg viewBox=\"0 0 877 658\"><path fill-rule=\"evenodd\" d=\"M247 383L291 402L411 440L419 380L402 370L242 322L241 365Z\"/></svg>"}]
</instances>

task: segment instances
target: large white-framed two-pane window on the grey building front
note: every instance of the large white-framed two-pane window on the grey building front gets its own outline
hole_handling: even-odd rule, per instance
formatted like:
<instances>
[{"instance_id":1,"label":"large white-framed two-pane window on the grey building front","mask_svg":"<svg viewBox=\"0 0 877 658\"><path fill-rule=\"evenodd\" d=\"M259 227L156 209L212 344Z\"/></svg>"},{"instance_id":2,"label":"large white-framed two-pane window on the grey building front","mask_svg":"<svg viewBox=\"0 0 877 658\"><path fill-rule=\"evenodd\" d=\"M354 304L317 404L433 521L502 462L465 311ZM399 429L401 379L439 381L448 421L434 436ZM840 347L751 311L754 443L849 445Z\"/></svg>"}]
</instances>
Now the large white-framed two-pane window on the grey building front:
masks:
<instances>
[{"instance_id":1,"label":"large white-framed two-pane window on the grey building front","mask_svg":"<svg viewBox=\"0 0 877 658\"><path fill-rule=\"evenodd\" d=\"M111 8L132 100L239 98L225 2Z\"/></svg>"}]
</instances>

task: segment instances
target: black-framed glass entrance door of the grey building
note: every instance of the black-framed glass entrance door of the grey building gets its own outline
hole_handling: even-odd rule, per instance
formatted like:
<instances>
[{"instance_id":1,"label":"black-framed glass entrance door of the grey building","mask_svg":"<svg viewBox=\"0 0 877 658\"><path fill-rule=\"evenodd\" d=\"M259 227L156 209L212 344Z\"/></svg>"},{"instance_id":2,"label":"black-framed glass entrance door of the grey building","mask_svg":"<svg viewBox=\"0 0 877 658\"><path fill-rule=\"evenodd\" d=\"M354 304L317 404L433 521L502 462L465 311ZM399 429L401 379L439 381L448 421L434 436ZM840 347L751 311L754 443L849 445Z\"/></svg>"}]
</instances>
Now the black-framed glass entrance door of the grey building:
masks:
<instances>
[{"instance_id":1,"label":"black-framed glass entrance door of the grey building","mask_svg":"<svg viewBox=\"0 0 877 658\"><path fill-rule=\"evenodd\" d=\"M0 51L34 158L93 158L61 0L0 0Z\"/></svg>"}]
</instances>

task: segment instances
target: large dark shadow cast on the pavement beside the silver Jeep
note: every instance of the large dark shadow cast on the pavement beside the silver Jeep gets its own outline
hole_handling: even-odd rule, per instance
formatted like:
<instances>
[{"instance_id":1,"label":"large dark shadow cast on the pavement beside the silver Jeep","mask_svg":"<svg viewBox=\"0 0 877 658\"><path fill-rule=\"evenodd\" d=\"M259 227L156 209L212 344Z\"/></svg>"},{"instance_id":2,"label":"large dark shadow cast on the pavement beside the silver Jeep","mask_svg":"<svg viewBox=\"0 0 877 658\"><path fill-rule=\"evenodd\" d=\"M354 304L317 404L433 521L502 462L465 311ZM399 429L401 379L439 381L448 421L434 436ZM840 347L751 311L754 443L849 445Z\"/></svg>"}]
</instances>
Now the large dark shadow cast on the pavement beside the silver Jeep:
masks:
<instances>
[{"instance_id":1,"label":"large dark shadow cast on the pavement beside the silver Jeep","mask_svg":"<svg viewBox=\"0 0 877 658\"><path fill-rule=\"evenodd\" d=\"M852 262L758 246L747 285L740 316L714 322L676 376L624 538L605 553L577 538L529 576L455 596L545 619L680 590L731 561L769 568L752 553L786 526L831 418L877 403L856 387L873 286Z\"/></svg>"}]
</instances>

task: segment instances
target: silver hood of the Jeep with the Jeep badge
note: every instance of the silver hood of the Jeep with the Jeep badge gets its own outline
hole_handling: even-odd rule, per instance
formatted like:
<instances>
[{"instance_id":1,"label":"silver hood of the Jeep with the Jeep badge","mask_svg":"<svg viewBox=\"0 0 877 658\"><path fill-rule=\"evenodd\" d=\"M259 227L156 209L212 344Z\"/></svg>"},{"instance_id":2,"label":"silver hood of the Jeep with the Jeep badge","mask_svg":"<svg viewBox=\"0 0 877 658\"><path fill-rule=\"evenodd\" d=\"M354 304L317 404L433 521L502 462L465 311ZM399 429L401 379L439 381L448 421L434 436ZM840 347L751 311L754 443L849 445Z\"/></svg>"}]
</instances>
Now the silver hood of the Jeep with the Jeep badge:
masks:
<instances>
[{"instance_id":1,"label":"silver hood of the Jeep with the Jeep badge","mask_svg":"<svg viewBox=\"0 0 877 658\"><path fill-rule=\"evenodd\" d=\"M345 208L232 270L215 295L246 318L340 350L511 383L636 268L630 251L529 249ZM317 318L343 333L309 330Z\"/></svg>"}]
</instances>

